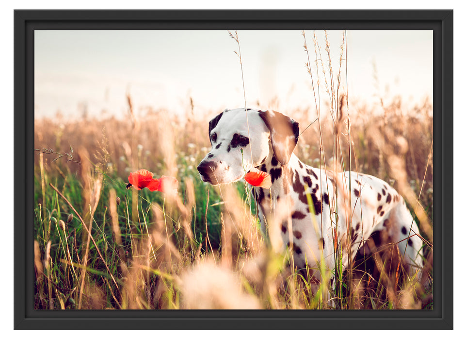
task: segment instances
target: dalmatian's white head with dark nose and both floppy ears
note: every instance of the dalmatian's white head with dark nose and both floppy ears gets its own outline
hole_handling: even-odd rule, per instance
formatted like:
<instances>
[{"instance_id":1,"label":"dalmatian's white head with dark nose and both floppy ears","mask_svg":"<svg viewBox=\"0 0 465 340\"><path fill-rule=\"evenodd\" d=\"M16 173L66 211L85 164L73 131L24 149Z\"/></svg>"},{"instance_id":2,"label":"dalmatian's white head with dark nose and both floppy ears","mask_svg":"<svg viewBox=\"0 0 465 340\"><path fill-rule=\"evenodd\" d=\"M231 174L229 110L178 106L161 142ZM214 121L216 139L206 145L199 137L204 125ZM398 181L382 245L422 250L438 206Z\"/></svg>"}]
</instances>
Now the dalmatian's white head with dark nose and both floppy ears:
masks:
<instances>
[{"instance_id":1,"label":"dalmatian's white head with dark nose and both floppy ears","mask_svg":"<svg viewBox=\"0 0 465 340\"><path fill-rule=\"evenodd\" d=\"M270 154L288 164L299 138L299 123L276 111L225 110L208 124L211 151L197 170L213 185L239 181ZM272 151L272 152L271 152Z\"/></svg>"}]
</instances>

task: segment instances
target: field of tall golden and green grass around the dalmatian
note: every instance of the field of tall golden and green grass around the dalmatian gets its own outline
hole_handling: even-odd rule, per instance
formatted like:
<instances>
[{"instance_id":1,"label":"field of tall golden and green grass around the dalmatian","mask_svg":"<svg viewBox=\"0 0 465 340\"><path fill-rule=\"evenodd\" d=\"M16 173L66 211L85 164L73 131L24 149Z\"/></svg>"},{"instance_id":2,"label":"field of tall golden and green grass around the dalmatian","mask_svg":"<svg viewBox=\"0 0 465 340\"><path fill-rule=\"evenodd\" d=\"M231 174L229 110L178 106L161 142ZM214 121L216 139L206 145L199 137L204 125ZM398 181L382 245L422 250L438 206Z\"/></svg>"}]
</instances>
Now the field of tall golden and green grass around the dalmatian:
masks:
<instances>
[{"instance_id":1,"label":"field of tall golden and green grass around the dalmatian","mask_svg":"<svg viewBox=\"0 0 465 340\"><path fill-rule=\"evenodd\" d=\"M407 110L402 98L380 98L377 107L349 106L328 83L321 109L311 93L307 107L284 112L301 126L295 153L314 167L364 172L395 187L426 241L430 278L432 103ZM220 112L192 104L180 116L127 100L122 119L35 120L35 308L433 308L432 284L424 289L402 275L389 250L366 259L366 271L340 264L334 289L305 279L289 266L289 252L276 252L260 234L243 181L200 180L208 121ZM268 106L279 111L279 102ZM127 188L138 169L176 177L178 193Z\"/></svg>"}]
</instances>

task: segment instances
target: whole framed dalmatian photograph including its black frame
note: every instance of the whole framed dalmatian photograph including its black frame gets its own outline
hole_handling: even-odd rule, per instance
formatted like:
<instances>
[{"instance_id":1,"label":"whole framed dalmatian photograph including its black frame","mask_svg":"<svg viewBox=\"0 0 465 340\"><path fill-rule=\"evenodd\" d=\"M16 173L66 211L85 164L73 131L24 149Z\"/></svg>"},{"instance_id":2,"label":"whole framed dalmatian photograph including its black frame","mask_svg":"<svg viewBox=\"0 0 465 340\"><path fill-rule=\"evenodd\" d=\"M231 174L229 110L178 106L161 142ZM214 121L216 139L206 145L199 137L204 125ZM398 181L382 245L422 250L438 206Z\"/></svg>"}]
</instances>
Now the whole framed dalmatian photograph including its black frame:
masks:
<instances>
[{"instance_id":1,"label":"whole framed dalmatian photograph including its black frame","mask_svg":"<svg viewBox=\"0 0 465 340\"><path fill-rule=\"evenodd\" d=\"M14 17L15 329L453 328L453 11Z\"/></svg>"}]
</instances>

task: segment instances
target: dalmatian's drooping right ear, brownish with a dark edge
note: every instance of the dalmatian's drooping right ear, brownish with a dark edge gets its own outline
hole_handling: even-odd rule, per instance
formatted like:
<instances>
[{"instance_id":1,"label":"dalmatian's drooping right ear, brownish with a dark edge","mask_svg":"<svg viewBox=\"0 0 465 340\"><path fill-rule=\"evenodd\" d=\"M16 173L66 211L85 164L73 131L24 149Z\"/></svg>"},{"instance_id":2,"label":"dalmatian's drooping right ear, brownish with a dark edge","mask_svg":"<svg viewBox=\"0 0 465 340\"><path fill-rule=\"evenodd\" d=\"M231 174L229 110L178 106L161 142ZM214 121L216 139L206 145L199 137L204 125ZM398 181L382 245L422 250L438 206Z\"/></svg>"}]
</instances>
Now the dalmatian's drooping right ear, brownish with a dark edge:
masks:
<instances>
[{"instance_id":1,"label":"dalmatian's drooping right ear, brownish with a dark edge","mask_svg":"<svg viewBox=\"0 0 465 340\"><path fill-rule=\"evenodd\" d=\"M277 111L259 111L258 115L270 130L271 146L279 163L289 163L299 139L299 123Z\"/></svg>"}]
</instances>

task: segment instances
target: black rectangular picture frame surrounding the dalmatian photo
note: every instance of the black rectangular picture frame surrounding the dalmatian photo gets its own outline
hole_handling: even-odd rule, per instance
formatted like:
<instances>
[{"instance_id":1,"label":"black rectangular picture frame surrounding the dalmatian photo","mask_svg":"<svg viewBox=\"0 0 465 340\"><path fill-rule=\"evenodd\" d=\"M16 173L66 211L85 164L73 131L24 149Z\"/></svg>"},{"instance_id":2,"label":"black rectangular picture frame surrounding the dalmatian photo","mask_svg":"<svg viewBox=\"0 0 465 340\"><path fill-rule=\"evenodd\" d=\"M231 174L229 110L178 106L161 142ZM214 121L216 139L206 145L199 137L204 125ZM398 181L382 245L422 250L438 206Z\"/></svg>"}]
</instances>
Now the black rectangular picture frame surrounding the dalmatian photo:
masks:
<instances>
[{"instance_id":1,"label":"black rectangular picture frame surrounding the dalmatian photo","mask_svg":"<svg viewBox=\"0 0 465 340\"><path fill-rule=\"evenodd\" d=\"M432 30L434 309L34 310L34 30ZM14 11L15 329L452 329L452 10L16 10ZM24 181L21 181L24 179ZM447 195L446 195L447 193ZM447 242L447 244L446 244ZM130 322L124 322L130 321Z\"/></svg>"}]
</instances>

